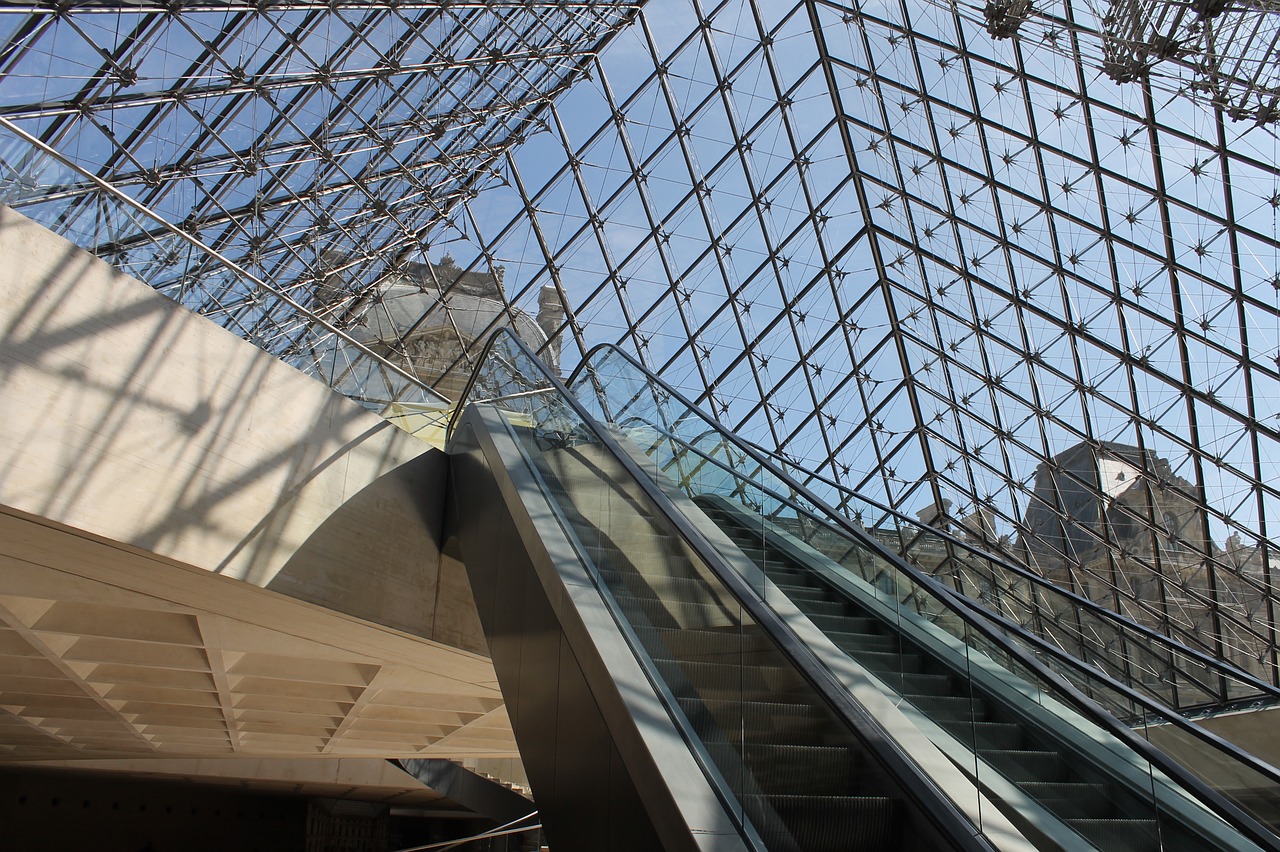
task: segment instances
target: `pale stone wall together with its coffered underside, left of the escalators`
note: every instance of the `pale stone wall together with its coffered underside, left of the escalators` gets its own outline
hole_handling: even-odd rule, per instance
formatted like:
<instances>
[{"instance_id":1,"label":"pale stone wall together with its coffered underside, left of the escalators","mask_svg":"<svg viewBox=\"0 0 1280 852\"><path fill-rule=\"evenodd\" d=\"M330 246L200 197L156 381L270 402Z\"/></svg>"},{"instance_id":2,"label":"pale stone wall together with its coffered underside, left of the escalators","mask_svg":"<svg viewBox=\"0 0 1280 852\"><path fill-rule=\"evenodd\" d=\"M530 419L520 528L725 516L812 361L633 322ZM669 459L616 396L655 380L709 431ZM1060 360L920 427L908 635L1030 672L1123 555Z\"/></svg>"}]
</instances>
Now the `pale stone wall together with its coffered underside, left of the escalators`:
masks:
<instances>
[{"instance_id":1,"label":"pale stone wall together with its coffered underside, left of the escalators","mask_svg":"<svg viewBox=\"0 0 1280 852\"><path fill-rule=\"evenodd\" d=\"M0 761L515 753L438 450L4 207L0 258Z\"/></svg>"}]
</instances>

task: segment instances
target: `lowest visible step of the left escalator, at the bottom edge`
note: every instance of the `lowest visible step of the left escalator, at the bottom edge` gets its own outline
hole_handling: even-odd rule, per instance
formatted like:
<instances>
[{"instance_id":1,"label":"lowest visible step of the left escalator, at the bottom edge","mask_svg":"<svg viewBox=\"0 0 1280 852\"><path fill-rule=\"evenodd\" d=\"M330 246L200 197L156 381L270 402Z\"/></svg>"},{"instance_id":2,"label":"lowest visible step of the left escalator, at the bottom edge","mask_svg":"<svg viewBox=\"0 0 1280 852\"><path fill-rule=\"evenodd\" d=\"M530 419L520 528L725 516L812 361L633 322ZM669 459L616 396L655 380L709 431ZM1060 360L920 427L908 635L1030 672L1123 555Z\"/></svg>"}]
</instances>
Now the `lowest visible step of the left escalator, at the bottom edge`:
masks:
<instances>
[{"instance_id":1,"label":"lowest visible step of the left escalator, at the bottom edge","mask_svg":"<svg viewBox=\"0 0 1280 852\"><path fill-rule=\"evenodd\" d=\"M748 797L744 805L771 848L791 847L788 839L792 838L804 852L888 852L900 848L899 809L892 798L771 796L768 805L787 826L787 833L760 819L758 815L763 809L751 798Z\"/></svg>"}]
</instances>

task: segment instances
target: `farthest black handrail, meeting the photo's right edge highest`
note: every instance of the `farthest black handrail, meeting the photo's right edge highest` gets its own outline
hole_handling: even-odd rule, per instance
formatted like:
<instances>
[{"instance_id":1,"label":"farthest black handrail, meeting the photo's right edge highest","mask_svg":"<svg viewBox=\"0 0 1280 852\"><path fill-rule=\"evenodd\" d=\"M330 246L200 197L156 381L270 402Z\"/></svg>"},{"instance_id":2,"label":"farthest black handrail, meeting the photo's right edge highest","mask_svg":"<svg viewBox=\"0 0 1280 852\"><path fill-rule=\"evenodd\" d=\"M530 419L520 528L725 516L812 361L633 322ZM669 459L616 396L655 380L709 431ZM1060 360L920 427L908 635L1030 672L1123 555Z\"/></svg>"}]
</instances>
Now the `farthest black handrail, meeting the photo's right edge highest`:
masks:
<instances>
[{"instance_id":1,"label":"farthest black handrail, meeting the photo's right edge highest","mask_svg":"<svg viewBox=\"0 0 1280 852\"><path fill-rule=\"evenodd\" d=\"M701 409L696 404L694 404L687 397L685 397L681 391L678 391L675 388L672 388L663 379L655 376L644 365L641 365L639 361L636 361L635 358L632 358L630 353L627 353L626 351L623 351L622 348L620 348L618 345L616 345L613 343L600 343L600 344L596 344L596 345L591 347L591 349L582 357L582 361L579 362L577 367L575 367L573 372L570 374L570 376L564 380L564 384L573 385L579 380L579 375L581 374L581 371L584 368L586 368L591 363L591 358L598 352L602 352L602 351L608 351L608 352L611 352L613 354L617 354L617 356L622 357L631 366L634 366L635 368L637 368L639 371L641 371L649 379L649 381L652 381L658 388L662 388L663 391L671 394L673 399L676 399L676 400L680 402L680 404L682 404L686 408L690 408L692 411L698 411L699 413L701 412ZM717 422L714 418L707 417L705 414L703 414L703 417L705 417L712 423ZM831 509L831 507L828 507L826 501L820 500L813 493L812 489L809 489L805 485L801 485L799 481L795 480L795 477L792 477L790 473L787 473L782 468L776 467L776 463L774 463L773 459L778 458L778 454L771 453L769 450L764 449L763 446L759 446L759 445L754 444L753 441L746 440L745 438L737 435L736 432L733 432L732 430L730 430L726 426L718 425L718 427L721 430L721 434L724 435L724 438L728 439L735 446L737 446L739 449L741 449L742 452L745 452L756 463L759 463L762 467L764 467L772 475L774 475L778 478L781 478L790 487L795 489L797 494L800 494L801 496L804 496L806 500L813 501L815 505L820 505L820 507L823 507L823 509L827 509L828 512L832 512L833 514L844 517L841 513L835 512L833 509ZM795 462L790 462L790 461L787 461L785 458L782 461L785 463L787 463L787 464L795 464ZM1139 622L1135 622L1135 620L1130 619L1129 617L1126 617L1126 615L1124 615L1121 613L1116 613L1115 610L1107 609L1106 606L1098 604L1097 601L1089 600L1088 597L1084 597L1084 596L1082 596L1082 595L1079 595L1076 592L1073 592L1073 591L1070 591L1068 588L1062 588L1057 583L1055 583L1055 582L1052 582L1052 581L1050 581L1050 580L1047 580L1047 578L1044 578L1044 577L1042 577L1042 576L1032 572L1030 569L1028 569L1028 568L1025 568L1023 565L1018 565L1016 563L1009 562L1009 560L1006 560L1006 559L1004 559L1004 558L1001 558L1001 556L998 556L996 554L988 554L986 550L975 548L973 544L970 544L968 541L964 541L963 539L960 539L960 537L957 537L957 536L955 536L955 535L952 535L950 532L946 532L943 530L936 530L933 527L928 527L927 525L920 523L919 521L915 521L915 519L913 519L913 518L902 514L901 512L897 512L896 509L891 509L891 508L888 508L886 505L882 505L882 504L877 503L876 500L872 500L869 498L864 498L863 495L856 494L855 491L852 491L852 490L850 490L850 489L847 489L847 487L845 487L842 485L832 482L831 480L827 480L826 477L823 477L820 475L813 473L812 476L814 476L814 478L818 478L819 481L822 481L822 482L824 482L827 485L831 485L832 487L837 489L838 491L841 491L844 494L852 495L854 498L856 498L859 500L863 500L864 503L870 504L873 508L876 508L876 509L878 509L881 512L886 512L888 514L892 514L896 519L902 521L904 523L908 523L909 526L913 526L913 527L916 527L916 528L922 528L923 532L928 532L931 535L932 533L937 533L941 539L945 539L948 544L952 544L952 545L955 545L955 546L957 546L957 548L960 548L963 550L966 550L968 553L970 553L970 554L973 554L973 555L975 555L975 556L978 556L980 559L986 559L986 560L991 562L992 564L998 565L1000 568L1010 571L1010 572L1018 574L1018 577L1020 577L1023 580L1027 580L1029 582L1036 583L1038 587L1044 588L1046 591L1048 591L1052 595L1059 595L1061 597L1065 597L1073 605L1080 606L1082 609L1089 611L1092 615L1097 615L1098 618L1101 618L1103 620L1114 622L1114 623L1119 624L1123 629L1134 631L1137 633L1140 633L1143 637L1151 640L1152 642L1155 642L1157 645L1164 645L1164 646L1169 647L1175 654L1181 654L1184 656L1189 656L1189 658L1194 659L1197 663L1201 663L1202 665L1204 665L1206 668L1215 669L1216 672L1220 673L1220 677L1231 677L1231 678L1234 678L1236 681L1242 681L1244 683L1248 683L1251 687L1258 690L1258 692L1262 692L1262 693L1265 693L1265 695L1267 695L1267 696L1270 696L1270 697L1280 701L1280 686L1276 686L1276 684L1272 684L1272 683L1267 683L1266 681L1258 678L1257 675L1251 674L1251 673L1248 673L1248 672L1245 672L1243 669L1239 669L1239 668L1231 665L1226 660L1216 658L1216 656L1211 655L1211 654L1206 654L1204 651L1201 651L1198 649L1183 645L1181 642L1178 642L1172 637L1166 636L1165 633L1161 633L1158 631L1155 631L1155 629L1152 629L1152 628L1149 628L1149 627L1147 627L1144 624L1140 624ZM1231 702L1224 701L1224 706L1229 706Z\"/></svg>"}]
</instances>

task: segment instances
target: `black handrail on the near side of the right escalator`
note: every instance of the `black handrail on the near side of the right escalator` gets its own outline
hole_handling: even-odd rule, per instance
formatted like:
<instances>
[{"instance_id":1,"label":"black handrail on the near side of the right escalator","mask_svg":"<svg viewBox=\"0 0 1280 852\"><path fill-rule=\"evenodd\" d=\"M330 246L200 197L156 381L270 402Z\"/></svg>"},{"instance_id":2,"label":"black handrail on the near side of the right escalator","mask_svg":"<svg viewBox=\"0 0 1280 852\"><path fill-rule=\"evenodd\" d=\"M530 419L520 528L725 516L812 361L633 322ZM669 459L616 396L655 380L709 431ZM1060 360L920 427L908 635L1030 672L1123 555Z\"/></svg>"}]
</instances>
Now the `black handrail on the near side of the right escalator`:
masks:
<instances>
[{"instance_id":1,"label":"black handrail on the near side of the right escalator","mask_svg":"<svg viewBox=\"0 0 1280 852\"><path fill-rule=\"evenodd\" d=\"M613 344L599 344L596 347L593 347L591 351L586 354L586 357L582 358L582 361L579 363L579 366L570 375L568 381L575 381L579 377L580 372L584 368L588 368L589 365L591 363L590 362L591 356L594 356L596 352L599 352L602 349L609 349L611 352L613 352L616 354L621 354L628 363L631 363L634 367L636 367L641 372L641 375L644 375L650 381L653 381L653 384L655 386L662 388L663 390L671 391L672 395L673 395L673 398L678 399L682 404L686 404L690 409L692 409L692 411L700 411L695 406L689 404L689 402L685 399L685 397L682 394L680 394L678 391L673 391L671 388L668 388L666 385L666 383L658 380L645 367L643 367L639 362L636 362L627 353L622 352L622 349L617 348ZM562 383L557 379L556 384L561 385ZM571 391L567 391L567 393L570 393L570 395L572 397ZM575 404L575 409L577 409L577 407L580 406L580 403L577 402L577 399L573 399L573 404ZM582 409L582 411L585 413L585 409ZM588 414L588 417L590 417L590 414ZM707 418L707 420L709 422L714 422L710 418ZM589 422L594 422L594 418L590 418ZM726 434L726 436L732 435L732 432L730 430L727 430L727 429L724 430L724 434ZM602 435L602 440L608 440L609 441L611 450L616 449L616 452L622 453L623 455L626 455L626 452L622 450L621 448L616 446L614 441L611 438L608 438L607 435ZM751 455L755 457L754 453L751 453ZM1240 807L1238 807L1234 802L1231 802L1231 801L1226 800L1225 797L1222 797L1221 793L1219 793L1213 788L1208 787L1204 782L1202 782L1199 778L1197 778L1190 771L1188 771L1181 764L1171 760L1164 751L1156 748L1155 746L1152 746L1151 743L1148 743L1146 739L1143 739L1142 737L1137 736L1133 730L1130 730L1119 719L1116 719L1115 716L1112 716L1110 713L1107 713L1105 709L1102 709L1097 702L1094 702L1092 698L1089 698L1083 692L1080 692L1075 686L1073 686L1070 682L1068 682L1062 675L1060 675L1056 672L1048 669L1044 664L1042 664L1039 660L1037 660L1032 654L1029 654L1023 647L1018 646L1009 636L1006 636L995 624L992 624L988 620L986 613L983 613L980 609L978 609L972 601L969 601L969 599L966 599L966 597L964 597L964 596L961 596L961 595L959 595L956 592L952 592L950 588L947 588L946 586L943 586L938 580L936 580L934 577L931 577L929 574L925 574L924 572L922 572L918 568L913 567L905 559L902 559L901 556L899 556L896 553L893 553L892 550L890 550L888 548L886 548L881 542L876 541L872 536L867 535L865 530L859 528L856 525L854 525L852 522L850 522L847 518L845 518L844 516L841 516L838 512L836 512L835 509L832 509L831 507L828 507L823 500L820 500L808 487L805 487L801 484L796 482L795 478L791 477L790 475L787 475L787 473L777 469L777 467L772 462L769 462L767 459L763 459L763 458L755 458L755 461L759 462L760 466L764 469L769 471L771 475L777 476L780 480L782 480L783 482L786 482L788 487L794 487L797 494L800 494L801 496L804 496L806 500L809 500L810 503L813 503L815 507L819 507L824 512L828 512L831 514L832 521L835 521L837 526L844 527L844 530L847 533L850 533L854 537L854 540L861 542L864 546L867 546L869 550L872 550L872 553L877 554L878 556L881 556L886 562L888 562L891 565L893 565L895 569L897 569L901 573L906 574L909 578L911 578L911 581L919 583L925 590L928 590L931 594L933 594L936 597L938 597L948 609L951 609L954 613L956 613L965 622L965 624L968 627L970 627L974 631L977 631L986 641L991 642L993 646L996 646L997 649L1000 649L1001 652L1007 654L1011 659L1016 660L1018 664L1021 665L1023 668L1025 668L1025 669L1030 670L1032 673L1034 673L1044 683L1052 684L1052 687L1059 691L1059 693L1060 693L1059 697L1065 698L1066 704L1069 706L1071 706L1073 709L1075 709L1076 711L1079 711L1082 715L1084 715L1085 719L1088 719L1093 724L1098 725L1100 728L1102 728L1103 730L1106 730L1111 736L1116 737L1120 742L1123 742L1130 750L1133 750L1134 752L1137 752L1143 760L1146 760L1147 762L1149 762L1152 765L1152 768L1158 769L1166 777L1169 777L1170 779L1172 779L1178 785L1180 785L1181 788L1184 788L1188 793L1190 793L1194 798L1197 798L1202 805L1204 805L1211 811L1213 811L1215 814L1217 814L1217 816L1221 817L1222 820L1225 820L1229 825L1231 825L1233 828L1235 828L1236 830L1239 830L1242 834L1244 834L1249 840L1257 843L1262 848L1275 849L1276 852L1280 852L1280 837L1277 837L1276 834L1274 834L1272 832L1270 832L1266 826L1263 826L1253 816L1251 816L1249 814L1247 814L1245 811L1243 811ZM628 458L625 459L625 463L626 462L630 462L630 459ZM634 463L627 464L628 469L632 466L634 466ZM639 468L636 468L636 469L639 471ZM648 478L648 477L645 476L643 478ZM644 487L645 487L646 491L649 491L650 490L650 484L649 482L644 482ZM652 489L652 490L653 491L658 491L658 489L655 489L655 487ZM660 505L663 507L663 509L667 509L667 507L671 505L669 501L666 499L666 495L663 495ZM671 509L676 514L680 514L678 510L675 510L673 505L671 505ZM672 518L672 519L675 521L675 518ZM682 517L680 519L684 521ZM686 525L682 523L680 526L685 527ZM684 528L681 528L681 532L684 532ZM695 537L700 540L700 535L696 535ZM690 544L691 545L694 544L692 539L690 539ZM695 546L698 546L698 545L695 545ZM708 546L708 550L710 550L709 546ZM717 560L717 568L718 567L719 567L719 563ZM730 573L733 573L733 572L730 572ZM756 603L755 592L753 590L750 590L750 586L748 586L746 583L742 583L742 585L750 592L751 603L755 604ZM746 601L744 600L742 603L746 603ZM768 610L768 606L764 605L763 603L760 603L760 606L763 609ZM772 611L772 610L769 610L769 611ZM753 611L753 614L754 614L754 611ZM771 622L772 620L776 620L776 619L771 619ZM790 629L788 628L786 629L786 633L790 637Z\"/></svg>"}]
</instances>

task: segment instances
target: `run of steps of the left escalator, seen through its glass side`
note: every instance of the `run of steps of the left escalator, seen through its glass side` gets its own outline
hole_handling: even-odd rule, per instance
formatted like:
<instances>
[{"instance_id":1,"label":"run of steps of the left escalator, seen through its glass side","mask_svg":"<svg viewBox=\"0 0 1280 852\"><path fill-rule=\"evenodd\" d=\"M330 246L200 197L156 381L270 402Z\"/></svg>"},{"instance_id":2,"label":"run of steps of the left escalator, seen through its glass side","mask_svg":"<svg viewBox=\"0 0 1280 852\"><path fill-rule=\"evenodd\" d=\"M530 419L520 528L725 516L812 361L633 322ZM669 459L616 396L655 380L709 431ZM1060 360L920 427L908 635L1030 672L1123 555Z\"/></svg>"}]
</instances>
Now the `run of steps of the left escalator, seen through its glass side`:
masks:
<instances>
[{"instance_id":1,"label":"run of steps of the left escalator, seen through its glass side","mask_svg":"<svg viewBox=\"0 0 1280 852\"><path fill-rule=\"evenodd\" d=\"M737 601L655 518L609 523L609 462L520 430L617 613L769 849L901 848L899 803L868 788L867 756ZM628 509L637 510L635 504ZM612 535L611 535L612 533Z\"/></svg>"}]
</instances>

